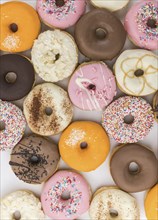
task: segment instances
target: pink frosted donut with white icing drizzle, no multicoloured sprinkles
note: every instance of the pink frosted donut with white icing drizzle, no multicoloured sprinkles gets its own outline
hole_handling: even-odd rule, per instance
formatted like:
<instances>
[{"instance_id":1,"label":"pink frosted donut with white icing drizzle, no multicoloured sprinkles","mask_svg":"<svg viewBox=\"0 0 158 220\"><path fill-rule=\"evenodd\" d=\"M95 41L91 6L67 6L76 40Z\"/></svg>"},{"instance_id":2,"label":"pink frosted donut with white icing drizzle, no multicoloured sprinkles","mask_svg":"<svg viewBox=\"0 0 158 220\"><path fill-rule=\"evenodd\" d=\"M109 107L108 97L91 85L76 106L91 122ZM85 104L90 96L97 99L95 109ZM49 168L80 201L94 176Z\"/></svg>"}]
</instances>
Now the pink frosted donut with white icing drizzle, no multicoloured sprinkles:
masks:
<instances>
[{"instance_id":1,"label":"pink frosted donut with white icing drizzle, no multicoloured sprinkles","mask_svg":"<svg viewBox=\"0 0 158 220\"><path fill-rule=\"evenodd\" d=\"M82 110L102 110L116 95L115 77L103 62L81 64L70 79L72 103Z\"/></svg>"}]
</instances>

